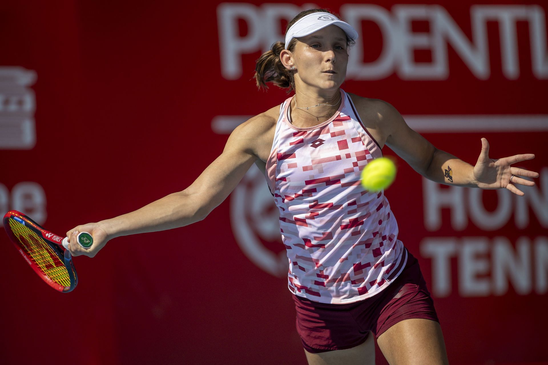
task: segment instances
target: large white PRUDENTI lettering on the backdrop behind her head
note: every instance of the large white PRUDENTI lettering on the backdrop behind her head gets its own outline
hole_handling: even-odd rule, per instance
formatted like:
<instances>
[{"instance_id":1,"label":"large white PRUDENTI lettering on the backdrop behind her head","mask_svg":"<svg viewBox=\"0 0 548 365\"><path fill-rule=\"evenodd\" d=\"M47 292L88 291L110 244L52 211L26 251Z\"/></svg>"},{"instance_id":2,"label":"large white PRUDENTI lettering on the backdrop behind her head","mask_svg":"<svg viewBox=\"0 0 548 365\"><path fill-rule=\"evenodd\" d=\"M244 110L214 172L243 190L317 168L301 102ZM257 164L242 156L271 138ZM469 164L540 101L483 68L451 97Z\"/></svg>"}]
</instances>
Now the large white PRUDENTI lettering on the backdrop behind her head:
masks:
<instances>
[{"instance_id":1,"label":"large white PRUDENTI lettering on the backdrop behind her head","mask_svg":"<svg viewBox=\"0 0 548 365\"><path fill-rule=\"evenodd\" d=\"M309 8L310 4L220 4L217 21L222 76L229 80L242 77L242 55L270 50L273 43L284 39L282 20L290 21ZM359 35L350 52L347 80L384 79L394 73L404 80L444 80L452 67L462 63L471 77L481 80L489 79L492 65L499 64L507 79L518 79L522 70L532 72L537 79L548 79L546 15L540 5L472 5L468 19L457 18L437 4L395 4L390 9L375 4L345 4L339 13ZM248 28L246 35L240 32L238 22L242 20ZM368 39L362 30L364 22L373 22L382 37L380 52L367 49L367 53L379 54L371 62L363 61L361 39ZM429 31L413 31L413 22L427 22ZM498 34L487 32L488 22L498 23ZM518 33L518 22L527 23L526 34ZM493 43L500 44L500 52L489 53L489 44ZM450 53L449 48L454 51ZM529 55L520 58L520 48ZM415 60L415 50L429 50L432 60ZM450 55L459 60L449 61ZM246 70L249 67L254 65L246 65Z\"/></svg>"}]
</instances>

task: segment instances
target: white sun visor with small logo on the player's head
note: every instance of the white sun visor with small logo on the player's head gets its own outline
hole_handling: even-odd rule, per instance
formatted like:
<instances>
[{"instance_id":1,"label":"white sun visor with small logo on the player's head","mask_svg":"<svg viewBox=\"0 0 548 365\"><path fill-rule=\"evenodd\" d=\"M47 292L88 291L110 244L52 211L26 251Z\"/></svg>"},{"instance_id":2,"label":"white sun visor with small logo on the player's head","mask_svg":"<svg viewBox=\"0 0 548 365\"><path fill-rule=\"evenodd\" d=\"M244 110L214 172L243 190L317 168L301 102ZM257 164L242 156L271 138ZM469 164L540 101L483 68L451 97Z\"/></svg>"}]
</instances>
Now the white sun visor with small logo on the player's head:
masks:
<instances>
[{"instance_id":1,"label":"white sun visor with small logo on the player's head","mask_svg":"<svg viewBox=\"0 0 548 365\"><path fill-rule=\"evenodd\" d=\"M318 12L303 16L289 28L286 33L286 49L293 38L311 35L332 24L344 30L349 38L358 38L358 32L347 22L337 19L333 14Z\"/></svg>"}]
</instances>

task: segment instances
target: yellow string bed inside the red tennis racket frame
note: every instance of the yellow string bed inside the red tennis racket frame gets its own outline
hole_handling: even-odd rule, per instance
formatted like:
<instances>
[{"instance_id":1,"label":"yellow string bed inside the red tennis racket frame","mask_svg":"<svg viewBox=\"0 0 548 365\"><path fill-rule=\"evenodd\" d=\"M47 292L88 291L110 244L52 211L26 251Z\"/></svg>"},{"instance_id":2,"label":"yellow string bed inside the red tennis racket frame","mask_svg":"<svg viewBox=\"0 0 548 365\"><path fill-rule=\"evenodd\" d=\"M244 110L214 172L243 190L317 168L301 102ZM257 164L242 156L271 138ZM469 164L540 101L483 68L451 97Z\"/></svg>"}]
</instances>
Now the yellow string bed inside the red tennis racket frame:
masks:
<instances>
[{"instance_id":1,"label":"yellow string bed inside the red tennis racket frame","mask_svg":"<svg viewBox=\"0 0 548 365\"><path fill-rule=\"evenodd\" d=\"M40 270L59 285L70 287L70 277L65 263L44 239L28 227L14 219L9 219L9 226L19 239L22 248L31 256Z\"/></svg>"}]
</instances>

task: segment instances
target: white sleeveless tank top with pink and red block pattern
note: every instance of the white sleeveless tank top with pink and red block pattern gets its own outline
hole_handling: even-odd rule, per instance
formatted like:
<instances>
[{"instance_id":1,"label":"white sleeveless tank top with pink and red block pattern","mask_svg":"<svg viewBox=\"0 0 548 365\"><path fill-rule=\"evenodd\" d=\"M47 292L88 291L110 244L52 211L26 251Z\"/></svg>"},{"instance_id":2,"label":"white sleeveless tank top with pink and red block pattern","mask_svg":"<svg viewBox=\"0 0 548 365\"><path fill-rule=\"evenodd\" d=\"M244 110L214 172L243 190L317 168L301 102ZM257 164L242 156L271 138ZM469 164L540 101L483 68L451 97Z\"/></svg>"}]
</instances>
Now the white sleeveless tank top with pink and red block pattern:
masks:
<instances>
[{"instance_id":1,"label":"white sleeveless tank top with pink and red block pattern","mask_svg":"<svg viewBox=\"0 0 548 365\"><path fill-rule=\"evenodd\" d=\"M383 153L340 92L335 115L310 128L291 124L292 98L284 101L266 162L289 259L289 290L334 304L379 293L407 261L384 191L360 184L363 167Z\"/></svg>"}]
</instances>

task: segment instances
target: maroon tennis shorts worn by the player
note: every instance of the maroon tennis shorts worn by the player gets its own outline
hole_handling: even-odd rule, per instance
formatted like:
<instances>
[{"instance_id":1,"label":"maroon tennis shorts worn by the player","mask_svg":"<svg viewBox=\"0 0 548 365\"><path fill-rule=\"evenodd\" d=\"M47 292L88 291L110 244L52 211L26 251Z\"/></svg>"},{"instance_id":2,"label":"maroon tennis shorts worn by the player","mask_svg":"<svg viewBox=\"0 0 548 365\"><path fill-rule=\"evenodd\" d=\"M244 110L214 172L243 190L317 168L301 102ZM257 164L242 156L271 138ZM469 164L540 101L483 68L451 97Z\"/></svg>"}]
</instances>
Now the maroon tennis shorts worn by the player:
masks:
<instances>
[{"instance_id":1,"label":"maroon tennis shorts worn by the player","mask_svg":"<svg viewBox=\"0 0 548 365\"><path fill-rule=\"evenodd\" d=\"M407 252L406 266L388 287L370 298L348 304L324 304L293 294L296 327L306 351L350 349L379 337L399 321L426 318L439 322L419 261Z\"/></svg>"}]
</instances>

